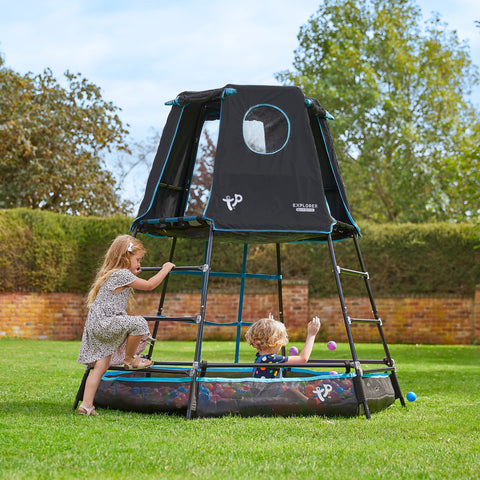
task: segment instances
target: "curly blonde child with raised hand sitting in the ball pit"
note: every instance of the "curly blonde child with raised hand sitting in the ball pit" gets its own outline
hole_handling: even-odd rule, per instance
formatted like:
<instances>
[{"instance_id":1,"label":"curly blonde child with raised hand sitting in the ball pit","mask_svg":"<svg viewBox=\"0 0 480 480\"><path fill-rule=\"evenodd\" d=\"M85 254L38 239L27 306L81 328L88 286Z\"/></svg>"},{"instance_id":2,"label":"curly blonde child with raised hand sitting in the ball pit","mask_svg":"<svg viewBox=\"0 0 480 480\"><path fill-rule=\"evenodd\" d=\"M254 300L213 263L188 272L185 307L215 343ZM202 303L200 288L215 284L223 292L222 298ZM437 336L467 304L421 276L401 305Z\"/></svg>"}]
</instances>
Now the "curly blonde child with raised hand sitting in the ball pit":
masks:
<instances>
[{"instance_id":1,"label":"curly blonde child with raised hand sitting in the ball pit","mask_svg":"<svg viewBox=\"0 0 480 480\"><path fill-rule=\"evenodd\" d=\"M307 339L302 351L299 355L289 357L278 355L280 349L288 343L288 335L285 325L271 315L255 322L247 330L245 340L257 349L255 363L307 363L319 329L320 319L313 317L308 324ZM253 376L255 378L277 378L281 376L281 370L267 366L257 367L253 370Z\"/></svg>"}]
</instances>

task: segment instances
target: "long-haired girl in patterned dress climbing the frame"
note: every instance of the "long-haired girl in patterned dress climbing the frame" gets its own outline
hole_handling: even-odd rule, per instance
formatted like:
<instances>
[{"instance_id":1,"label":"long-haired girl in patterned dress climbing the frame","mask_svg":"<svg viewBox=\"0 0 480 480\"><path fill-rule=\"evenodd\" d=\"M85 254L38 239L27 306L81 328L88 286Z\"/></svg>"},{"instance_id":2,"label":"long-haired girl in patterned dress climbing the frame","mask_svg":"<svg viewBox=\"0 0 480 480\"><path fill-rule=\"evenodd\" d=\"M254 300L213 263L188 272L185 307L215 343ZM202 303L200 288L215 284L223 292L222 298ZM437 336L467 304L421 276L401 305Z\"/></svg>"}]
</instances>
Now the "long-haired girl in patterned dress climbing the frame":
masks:
<instances>
[{"instance_id":1,"label":"long-haired girl in patterned dress climbing the frame","mask_svg":"<svg viewBox=\"0 0 480 480\"><path fill-rule=\"evenodd\" d=\"M150 336L147 321L127 314L132 288L153 290L158 287L175 265L167 262L149 280L137 278L145 254L142 243L130 235L119 235L108 249L102 267L88 294L89 307L83 331L78 363L93 365L87 377L81 415L97 415L93 399L103 374L110 366L112 354L125 342L126 370L140 370L153 362L136 356L142 337Z\"/></svg>"}]
</instances>

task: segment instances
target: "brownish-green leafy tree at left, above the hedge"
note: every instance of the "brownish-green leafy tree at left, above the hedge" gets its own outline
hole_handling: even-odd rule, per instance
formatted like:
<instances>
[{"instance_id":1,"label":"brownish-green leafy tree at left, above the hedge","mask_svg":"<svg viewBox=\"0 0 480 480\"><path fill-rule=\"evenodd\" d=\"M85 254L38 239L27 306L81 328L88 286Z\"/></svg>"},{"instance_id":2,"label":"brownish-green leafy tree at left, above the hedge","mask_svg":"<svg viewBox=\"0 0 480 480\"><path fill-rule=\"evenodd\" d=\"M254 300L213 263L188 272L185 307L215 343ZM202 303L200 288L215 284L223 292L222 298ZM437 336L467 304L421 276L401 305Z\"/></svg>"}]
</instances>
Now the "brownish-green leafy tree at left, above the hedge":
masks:
<instances>
[{"instance_id":1,"label":"brownish-green leafy tree at left, above the hedge","mask_svg":"<svg viewBox=\"0 0 480 480\"><path fill-rule=\"evenodd\" d=\"M119 109L80 74L67 71L65 81L0 64L0 208L127 213L102 160L128 150Z\"/></svg>"}]
</instances>

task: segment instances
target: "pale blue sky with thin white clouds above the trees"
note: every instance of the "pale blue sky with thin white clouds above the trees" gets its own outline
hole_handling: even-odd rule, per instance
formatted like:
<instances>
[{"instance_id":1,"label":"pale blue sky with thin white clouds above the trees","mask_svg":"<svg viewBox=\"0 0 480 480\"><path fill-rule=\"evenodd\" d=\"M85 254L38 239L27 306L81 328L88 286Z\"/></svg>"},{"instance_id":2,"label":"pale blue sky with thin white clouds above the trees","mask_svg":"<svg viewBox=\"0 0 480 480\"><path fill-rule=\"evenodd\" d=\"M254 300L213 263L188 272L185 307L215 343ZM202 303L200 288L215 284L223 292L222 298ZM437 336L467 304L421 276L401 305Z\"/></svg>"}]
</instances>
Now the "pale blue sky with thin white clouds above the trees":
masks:
<instances>
[{"instance_id":1,"label":"pale blue sky with thin white clouds above the trees","mask_svg":"<svg viewBox=\"0 0 480 480\"><path fill-rule=\"evenodd\" d=\"M417 0L467 40L480 66L479 0ZM0 0L0 53L19 73L70 70L120 107L131 137L161 131L185 90L277 85L320 0ZM472 18L473 16L473 18ZM480 105L480 87L473 101ZM153 159L152 159L153 160ZM146 179L145 179L146 181ZM132 193L132 195L137 195ZM137 199L135 199L137 200Z\"/></svg>"}]
</instances>

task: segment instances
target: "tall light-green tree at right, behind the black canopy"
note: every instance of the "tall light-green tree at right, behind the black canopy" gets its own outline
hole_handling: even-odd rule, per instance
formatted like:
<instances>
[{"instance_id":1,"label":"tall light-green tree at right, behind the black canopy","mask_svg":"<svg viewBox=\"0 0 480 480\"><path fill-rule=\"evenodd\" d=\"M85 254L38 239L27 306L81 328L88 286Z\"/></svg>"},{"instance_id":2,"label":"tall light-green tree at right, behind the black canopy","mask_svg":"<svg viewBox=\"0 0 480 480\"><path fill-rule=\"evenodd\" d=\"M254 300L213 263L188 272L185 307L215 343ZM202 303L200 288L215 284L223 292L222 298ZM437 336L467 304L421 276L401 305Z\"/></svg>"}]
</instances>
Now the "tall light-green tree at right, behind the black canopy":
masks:
<instances>
[{"instance_id":1,"label":"tall light-green tree at right, behind the black canopy","mask_svg":"<svg viewBox=\"0 0 480 480\"><path fill-rule=\"evenodd\" d=\"M478 83L469 47L413 0L325 0L298 35L301 86L335 117L332 133L356 216L478 218Z\"/></svg>"}]
</instances>

